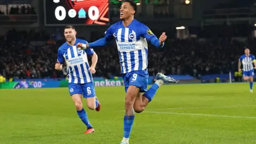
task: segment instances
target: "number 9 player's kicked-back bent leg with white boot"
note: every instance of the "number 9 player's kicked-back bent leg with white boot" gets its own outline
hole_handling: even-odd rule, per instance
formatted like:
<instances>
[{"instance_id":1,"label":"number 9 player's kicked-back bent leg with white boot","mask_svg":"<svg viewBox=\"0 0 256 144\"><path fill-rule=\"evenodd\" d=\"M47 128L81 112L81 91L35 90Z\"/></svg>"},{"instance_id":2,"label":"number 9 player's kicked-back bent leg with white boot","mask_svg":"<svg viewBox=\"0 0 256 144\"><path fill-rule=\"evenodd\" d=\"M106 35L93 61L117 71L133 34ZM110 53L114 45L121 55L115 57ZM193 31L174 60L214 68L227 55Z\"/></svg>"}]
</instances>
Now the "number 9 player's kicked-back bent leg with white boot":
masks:
<instances>
[{"instance_id":1,"label":"number 9 player's kicked-back bent leg with white boot","mask_svg":"<svg viewBox=\"0 0 256 144\"><path fill-rule=\"evenodd\" d=\"M156 82L150 87L150 89L144 94L138 94L134 102L133 108L136 113L141 113L147 107L148 103L153 99L156 90L163 84L177 83L175 79L167 77L162 73L158 73L156 76Z\"/></svg>"}]
</instances>

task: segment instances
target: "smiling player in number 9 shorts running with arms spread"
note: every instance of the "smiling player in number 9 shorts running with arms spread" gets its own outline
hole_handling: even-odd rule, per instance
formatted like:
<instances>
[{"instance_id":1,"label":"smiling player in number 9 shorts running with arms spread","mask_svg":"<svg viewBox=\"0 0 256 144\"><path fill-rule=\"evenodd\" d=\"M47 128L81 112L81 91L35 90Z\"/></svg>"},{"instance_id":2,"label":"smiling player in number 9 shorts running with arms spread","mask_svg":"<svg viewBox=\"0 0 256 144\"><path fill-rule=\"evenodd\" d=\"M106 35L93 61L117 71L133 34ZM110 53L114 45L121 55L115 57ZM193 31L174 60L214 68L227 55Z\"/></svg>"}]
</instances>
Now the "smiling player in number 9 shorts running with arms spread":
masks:
<instances>
[{"instance_id":1,"label":"smiling player in number 9 shorts running with arms spread","mask_svg":"<svg viewBox=\"0 0 256 144\"><path fill-rule=\"evenodd\" d=\"M113 39L116 41L126 92L124 137L121 143L129 143L134 111L141 113L153 99L159 86L166 83L176 83L175 79L158 73L157 81L147 90L147 41L156 47L163 47L167 36L163 33L158 39L147 26L134 19L136 11L137 4L133 1L124 1L120 9L122 21L110 26L104 38L93 43L79 43L77 45L81 49L86 49L107 45Z\"/></svg>"}]
</instances>

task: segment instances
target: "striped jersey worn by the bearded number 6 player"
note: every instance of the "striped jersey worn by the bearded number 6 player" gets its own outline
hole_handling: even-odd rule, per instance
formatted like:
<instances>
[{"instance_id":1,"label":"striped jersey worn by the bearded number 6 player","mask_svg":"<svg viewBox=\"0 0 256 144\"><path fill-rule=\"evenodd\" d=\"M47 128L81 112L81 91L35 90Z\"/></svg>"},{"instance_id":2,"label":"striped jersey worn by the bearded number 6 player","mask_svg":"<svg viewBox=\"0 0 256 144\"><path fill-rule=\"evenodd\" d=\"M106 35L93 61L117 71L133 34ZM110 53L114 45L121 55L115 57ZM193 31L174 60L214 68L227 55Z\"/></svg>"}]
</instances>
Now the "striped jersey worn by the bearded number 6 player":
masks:
<instances>
[{"instance_id":1,"label":"striped jersey worn by the bearded number 6 player","mask_svg":"<svg viewBox=\"0 0 256 144\"><path fill-rule=\"evenodd\" d=\"M68 83L84 84L92 82L92 74L89 70L88 55L93 55L93 49L78 50L78 43L87 44L87 41L76 38L74 45L62 44L58 50L58 61L67 63Z\"/></svg>"}]
</instances>

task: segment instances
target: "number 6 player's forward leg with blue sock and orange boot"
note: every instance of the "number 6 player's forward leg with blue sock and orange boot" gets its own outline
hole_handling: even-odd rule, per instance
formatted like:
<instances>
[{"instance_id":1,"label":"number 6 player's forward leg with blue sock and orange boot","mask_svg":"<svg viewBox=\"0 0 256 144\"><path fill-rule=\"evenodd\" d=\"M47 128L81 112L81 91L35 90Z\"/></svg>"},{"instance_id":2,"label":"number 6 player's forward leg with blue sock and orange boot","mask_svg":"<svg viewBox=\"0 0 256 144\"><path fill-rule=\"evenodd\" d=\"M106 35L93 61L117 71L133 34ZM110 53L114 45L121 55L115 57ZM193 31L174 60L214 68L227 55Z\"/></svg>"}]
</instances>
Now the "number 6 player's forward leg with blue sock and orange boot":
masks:
<instances>
[{"instance_id":1,"label":"number 6 player's forward leg with blue sock and orange boot","mask_svg":"<svg viewBox=\"0 0 256 144\"><path fill-rule=\"evenodd\" d=\"M78 116L81 118L82 122L87 126L87 130L84 133L94 132L94 129L92 128L92 125L90 124L87 114L83 108L82 94L73 94L71 95L71 98L75 103Z\"/></svg>"}]
</instances>

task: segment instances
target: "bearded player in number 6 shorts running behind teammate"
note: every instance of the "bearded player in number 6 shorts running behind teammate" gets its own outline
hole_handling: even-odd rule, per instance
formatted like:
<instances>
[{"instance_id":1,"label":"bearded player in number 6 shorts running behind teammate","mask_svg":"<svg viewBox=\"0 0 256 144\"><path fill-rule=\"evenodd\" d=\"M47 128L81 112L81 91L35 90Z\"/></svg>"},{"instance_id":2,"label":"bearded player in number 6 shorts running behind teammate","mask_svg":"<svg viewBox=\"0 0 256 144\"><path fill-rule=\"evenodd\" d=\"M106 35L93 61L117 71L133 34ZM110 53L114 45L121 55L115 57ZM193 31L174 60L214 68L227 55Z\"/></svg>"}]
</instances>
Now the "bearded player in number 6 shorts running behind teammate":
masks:
<instances>
[{"instance_id":1,"label":"bearded player in number 6 shorts running behind teammate","mask_svg":"<svg viewBox=\"0 0 256 144\"><path fill-rule=\"evenodd\" d=\"M55 69L62 70L62 65L66 61L68 73L68 88L71 98L73 99L77 114L87 126L84 133L92 133L94 129L89 123L87 114L83 108L82 95L86 98L89 109L100 111L100 102L95 97L92 74L98 61L97 54L93 49L78 50L78 43L87 43L85 40L76 38L76 30L73 26L66 26L64 35L67 40L58 50L58 60ZM87 55L92 57L92 65L89 67Z\"/></svg>"}]
</instances>

